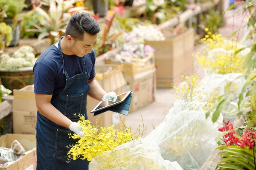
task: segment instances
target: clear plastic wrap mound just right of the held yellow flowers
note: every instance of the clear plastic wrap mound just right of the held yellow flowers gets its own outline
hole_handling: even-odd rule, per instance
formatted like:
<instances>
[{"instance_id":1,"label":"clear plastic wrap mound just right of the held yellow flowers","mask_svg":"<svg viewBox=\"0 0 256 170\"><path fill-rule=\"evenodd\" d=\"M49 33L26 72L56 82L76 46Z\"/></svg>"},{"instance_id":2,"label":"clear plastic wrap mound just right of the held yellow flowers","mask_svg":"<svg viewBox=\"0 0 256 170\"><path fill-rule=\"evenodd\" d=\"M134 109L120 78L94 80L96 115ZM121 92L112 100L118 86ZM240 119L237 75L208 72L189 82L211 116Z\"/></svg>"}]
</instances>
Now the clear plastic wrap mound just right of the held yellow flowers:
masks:
<instances>
[{"instance_id":1,"label":"clear plastic wrap mound just right of the held yellow flowers","mask_svg":"<svg viewBox=\"0 0 256 170\"><path fill-rule=\"evenodd\" d=\"M163 159L177 161L183 170L199 170L217 147L220 125L221 121L205 119L204 112L170 112L145 140L159 146Z\"/></svg>"}]
</instances>

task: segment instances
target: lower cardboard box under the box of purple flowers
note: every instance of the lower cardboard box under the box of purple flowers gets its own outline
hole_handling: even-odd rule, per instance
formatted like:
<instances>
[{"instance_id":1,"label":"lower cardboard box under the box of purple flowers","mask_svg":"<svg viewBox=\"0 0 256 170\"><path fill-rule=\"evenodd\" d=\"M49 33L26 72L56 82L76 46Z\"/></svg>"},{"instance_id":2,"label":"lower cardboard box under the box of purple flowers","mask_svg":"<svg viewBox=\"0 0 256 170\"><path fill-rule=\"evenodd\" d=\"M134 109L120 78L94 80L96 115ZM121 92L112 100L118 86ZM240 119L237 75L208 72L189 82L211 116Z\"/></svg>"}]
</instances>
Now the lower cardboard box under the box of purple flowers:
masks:
<instances>
[{"instance_id":1,"label":"lower cardboard box under the box of purple flowers","mask_svg":"<svg viewBox=\"0 0 256 170\"><path fill-rule=\"evenodd\" d=\"M125 79L128 83L128 89L132 90L130 112L137 111L155 101L156 96L156 69L153 68L139 74L127 75Z\"/></svg>"}]
</instances>

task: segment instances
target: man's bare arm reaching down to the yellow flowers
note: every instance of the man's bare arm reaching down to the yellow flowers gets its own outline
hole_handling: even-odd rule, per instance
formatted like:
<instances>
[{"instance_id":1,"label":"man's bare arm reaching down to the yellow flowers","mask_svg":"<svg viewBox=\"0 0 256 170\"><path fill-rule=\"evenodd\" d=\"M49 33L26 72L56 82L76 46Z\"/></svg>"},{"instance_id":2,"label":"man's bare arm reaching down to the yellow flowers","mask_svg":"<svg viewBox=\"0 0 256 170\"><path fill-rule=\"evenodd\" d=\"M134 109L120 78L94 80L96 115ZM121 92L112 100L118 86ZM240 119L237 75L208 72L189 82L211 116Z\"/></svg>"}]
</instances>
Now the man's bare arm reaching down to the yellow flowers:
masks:
<instances>
[{"instance_id":1,"label":"man's bare arm reaching down to the yellow flowers","mask_svg":"<svg viewBox=\"0 0 256 170\"><path fill-rule=\"evenodd\" d=\"M72 121L51 104L52 95L35 94L35 102L38 111L52 122L69 129Z\"/></svg>"}]
</instances>

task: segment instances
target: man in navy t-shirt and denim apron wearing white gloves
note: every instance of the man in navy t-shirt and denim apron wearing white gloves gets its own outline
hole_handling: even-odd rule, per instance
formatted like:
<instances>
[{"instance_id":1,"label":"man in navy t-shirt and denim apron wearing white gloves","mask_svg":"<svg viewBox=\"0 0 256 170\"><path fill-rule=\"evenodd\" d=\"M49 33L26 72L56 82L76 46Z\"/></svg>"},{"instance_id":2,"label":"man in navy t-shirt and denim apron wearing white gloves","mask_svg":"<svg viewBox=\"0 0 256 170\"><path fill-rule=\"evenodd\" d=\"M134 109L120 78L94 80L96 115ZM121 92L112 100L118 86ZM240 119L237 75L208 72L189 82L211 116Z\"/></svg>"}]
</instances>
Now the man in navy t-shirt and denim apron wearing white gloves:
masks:
<instances>
[{"instance_id":1,"label":"man in navy t-shirt and denim apron wearing white gloves","mask_svg":"<svg viewBox=\"0 0 256 170\"><path fill-rule=\"evenodd\" d=\"M100 28L87 13L74 14L65 36L37 59L34 70L37 170L88 170L87 160L67 163L67 145L76 144L69 133L84 136L74 113L87 118L87 95L99 101L116 100L115 92L106 93L94 79L96 43Z\"/></svg>"}]
</instances>

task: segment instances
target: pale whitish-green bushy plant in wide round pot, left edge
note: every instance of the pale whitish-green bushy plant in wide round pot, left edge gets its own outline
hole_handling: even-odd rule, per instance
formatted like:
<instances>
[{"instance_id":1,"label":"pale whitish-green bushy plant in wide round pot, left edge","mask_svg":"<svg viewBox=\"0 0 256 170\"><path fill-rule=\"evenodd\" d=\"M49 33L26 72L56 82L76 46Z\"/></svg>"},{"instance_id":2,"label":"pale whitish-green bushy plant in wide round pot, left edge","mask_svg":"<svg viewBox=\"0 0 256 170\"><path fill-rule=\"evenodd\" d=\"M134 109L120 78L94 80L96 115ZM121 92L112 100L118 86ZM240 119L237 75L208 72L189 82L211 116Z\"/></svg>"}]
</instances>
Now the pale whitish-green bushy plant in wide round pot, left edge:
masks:
<instances>
[{"instance_id":1,"label":"pale whitish-green bushy plant in wide round pot, left edge","mask_svg":"<svg viewBox=\"0 0 256 170\"><path fill-rule=\"evenodd\" d=\"M5 88L13 91L34 84L36 58L33 51L30 46L22 46L12 57L5 53L0 56L0 78Z\"/></svg>"}]
</instances>

